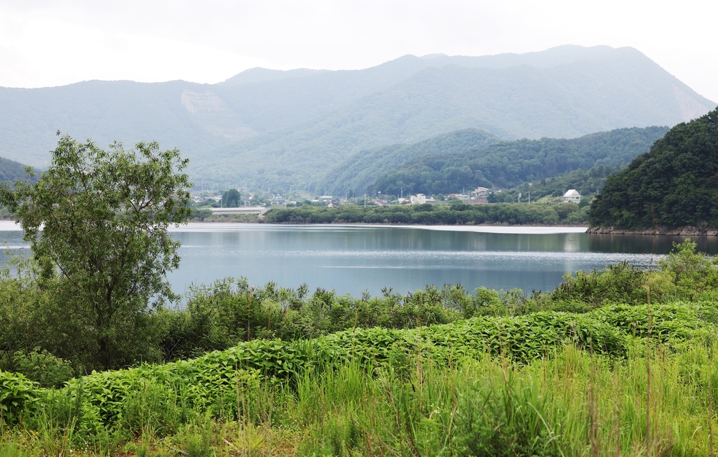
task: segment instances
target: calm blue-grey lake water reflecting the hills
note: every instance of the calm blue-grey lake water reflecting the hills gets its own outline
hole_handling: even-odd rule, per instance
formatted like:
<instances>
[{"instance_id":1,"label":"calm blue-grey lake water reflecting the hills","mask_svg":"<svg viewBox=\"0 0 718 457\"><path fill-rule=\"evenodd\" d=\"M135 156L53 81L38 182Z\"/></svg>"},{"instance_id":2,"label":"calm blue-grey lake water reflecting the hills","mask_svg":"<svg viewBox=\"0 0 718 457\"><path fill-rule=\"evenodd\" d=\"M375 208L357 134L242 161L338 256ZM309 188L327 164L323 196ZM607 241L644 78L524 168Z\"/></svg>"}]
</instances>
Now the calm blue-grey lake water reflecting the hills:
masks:
<instances>
[{"instance_id":1,"label":"calm blue-grey lake water reflecting the hills","mask_svg":"<svg viewBox=\"0 0 718 457\"><path fill-rule=\"evenodd\" d=\"M12 222L0 237L22 246ZM564 273L603 268L628 260L656 263L683 237L587 235L579 227L397 227L362 225L190 224L172 230L182 242L182 265L169 275L176 292L192 283L228 276L255 286L274 281L296 288L307 283L339 293L414 291L427 284L461 283L523 291L551 290ZM718 237L695 239L718 253Z\"/></svg>"}]
</instances>

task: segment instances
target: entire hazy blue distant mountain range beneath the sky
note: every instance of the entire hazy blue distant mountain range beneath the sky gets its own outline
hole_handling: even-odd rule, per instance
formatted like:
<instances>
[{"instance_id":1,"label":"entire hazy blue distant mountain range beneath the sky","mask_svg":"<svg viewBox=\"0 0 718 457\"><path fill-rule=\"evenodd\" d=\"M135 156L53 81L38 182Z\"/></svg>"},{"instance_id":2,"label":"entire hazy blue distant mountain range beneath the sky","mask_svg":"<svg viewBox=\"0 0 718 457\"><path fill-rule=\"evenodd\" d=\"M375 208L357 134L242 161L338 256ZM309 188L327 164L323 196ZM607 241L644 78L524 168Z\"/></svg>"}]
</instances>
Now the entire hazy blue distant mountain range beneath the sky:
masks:
<instances>
[{"instance_id":1,"label":"entire hazy blue distant mountain range beneath the sky","mask_svg":"<svg viewBox=\"0 0 718 457\"><path fill-rule=\"evenodd\" d=\"M264 189L336 185L338 192L355 184L322 176L360 151L398 150L404 146L388 145L466 129L483 131L475 137L477 149L489 138L574 138L673 126L714 107L632 48L409 55L365 70L256 68L215 85L88 81L0 88L0 156L43 166L57 130L101 146L157 140L190 158L195 182ZM440 142L431 147L444 152ZM379 154L391 164L375 163L368 154L371 170L353 179L371 182L371 174L396 166L401 154L419 153Z\"/></svg>"}]
</instances>

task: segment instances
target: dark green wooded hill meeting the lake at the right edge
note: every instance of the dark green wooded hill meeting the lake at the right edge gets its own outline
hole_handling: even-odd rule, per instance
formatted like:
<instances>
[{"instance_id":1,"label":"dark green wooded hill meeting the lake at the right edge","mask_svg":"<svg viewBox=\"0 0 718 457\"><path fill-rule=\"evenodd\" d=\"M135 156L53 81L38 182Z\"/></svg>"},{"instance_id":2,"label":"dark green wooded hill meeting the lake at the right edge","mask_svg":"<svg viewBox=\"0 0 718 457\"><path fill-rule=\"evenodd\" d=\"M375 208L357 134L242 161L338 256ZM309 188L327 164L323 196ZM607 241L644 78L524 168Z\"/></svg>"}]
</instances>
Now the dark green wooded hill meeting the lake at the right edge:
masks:
<instances>
[{"instance_id":1,"label":"dark green wooded hill meeting the lake at the right edge","mask_svg":"<svg viewBox=\"0 0 718 457\"><path fill-rule=\"evenodd\" d=\"M594 227L718 227L718 109L671 128L651 151L609 176L591 206Z\"/></svg>"}]
</instances>

